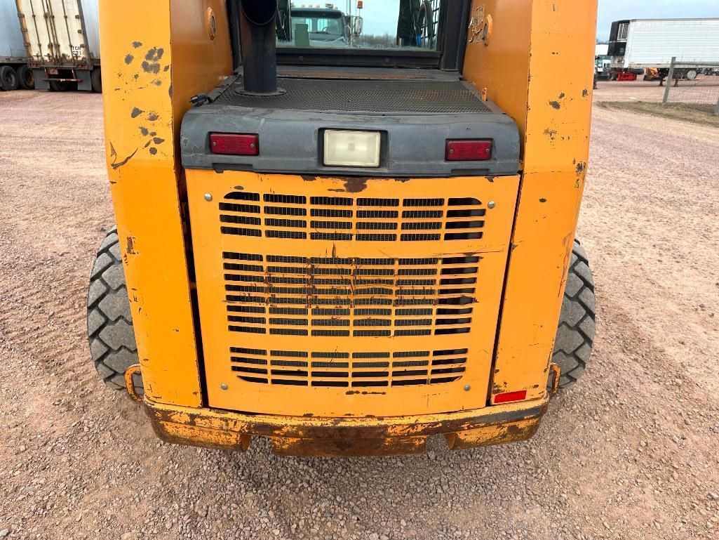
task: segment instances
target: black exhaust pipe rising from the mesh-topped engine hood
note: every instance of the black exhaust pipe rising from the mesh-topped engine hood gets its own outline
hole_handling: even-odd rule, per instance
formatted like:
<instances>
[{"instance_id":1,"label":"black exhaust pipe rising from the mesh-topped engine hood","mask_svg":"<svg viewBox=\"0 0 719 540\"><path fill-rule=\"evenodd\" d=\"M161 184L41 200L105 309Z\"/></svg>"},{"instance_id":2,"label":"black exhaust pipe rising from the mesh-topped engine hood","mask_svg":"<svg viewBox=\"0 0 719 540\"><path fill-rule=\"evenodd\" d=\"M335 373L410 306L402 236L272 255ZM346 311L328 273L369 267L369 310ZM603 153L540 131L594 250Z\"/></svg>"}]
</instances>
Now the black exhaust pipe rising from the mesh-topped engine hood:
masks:
<instances>
[{"instance_id":1,"label":"black exhaust pipe rising from the mesh-topped engine hood","mask_svg":"<svg viewBox=\"0 0 719 540\"><path fill-rule=\"evenodd\" d=\"M277 0L239 0L244 94L276 96Z\"/></svg>"}]
</instances>

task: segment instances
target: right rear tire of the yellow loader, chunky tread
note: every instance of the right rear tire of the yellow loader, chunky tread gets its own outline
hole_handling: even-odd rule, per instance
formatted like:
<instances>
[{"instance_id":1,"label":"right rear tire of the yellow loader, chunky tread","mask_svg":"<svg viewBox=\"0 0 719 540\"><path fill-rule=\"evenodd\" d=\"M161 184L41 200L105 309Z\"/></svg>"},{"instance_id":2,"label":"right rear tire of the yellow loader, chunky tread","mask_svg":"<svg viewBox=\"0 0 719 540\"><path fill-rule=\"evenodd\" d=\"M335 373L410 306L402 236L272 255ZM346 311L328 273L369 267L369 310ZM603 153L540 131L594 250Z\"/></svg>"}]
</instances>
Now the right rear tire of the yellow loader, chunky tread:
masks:
<instances>
[{"instance_id":1,"label":"right rear tire of the yellow loader, chunky tread","mask_svg":"<svg viewBox=\"0 0 719 540\"><path fill-rule=\"evenodd\" d=\"M587 253L574 240L572 261L564 290L562 315L559 316L557 340L554 342L552 361L559 364L562 377L559 387L571 386L582 377L592 354L595 335L597 304L594 296L594 279L587 260ZM547 383L551 387L551 377Z\"/></svg>"}]
</instances>

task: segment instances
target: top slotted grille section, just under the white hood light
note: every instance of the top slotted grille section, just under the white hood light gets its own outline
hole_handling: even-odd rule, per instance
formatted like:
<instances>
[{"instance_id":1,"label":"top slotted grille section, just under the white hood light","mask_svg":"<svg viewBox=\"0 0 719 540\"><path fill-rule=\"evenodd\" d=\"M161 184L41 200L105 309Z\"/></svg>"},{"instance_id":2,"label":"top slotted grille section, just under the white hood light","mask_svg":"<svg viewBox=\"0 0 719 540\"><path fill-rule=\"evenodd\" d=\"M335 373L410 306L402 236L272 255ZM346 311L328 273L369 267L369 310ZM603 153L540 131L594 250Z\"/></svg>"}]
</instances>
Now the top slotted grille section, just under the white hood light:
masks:
<instances>
[{"instance_id":1,"label":"top slotted grille section, just under the white hood light","mask_svg":"<svg viewBox=\"0 0 719 540\"><path fill-rule=\"evenodd\" d=\"M478 240L485 205L472 197L378 199L231 192L221 233L287 240L429 242Z\"/></svg>"}]
</instances>

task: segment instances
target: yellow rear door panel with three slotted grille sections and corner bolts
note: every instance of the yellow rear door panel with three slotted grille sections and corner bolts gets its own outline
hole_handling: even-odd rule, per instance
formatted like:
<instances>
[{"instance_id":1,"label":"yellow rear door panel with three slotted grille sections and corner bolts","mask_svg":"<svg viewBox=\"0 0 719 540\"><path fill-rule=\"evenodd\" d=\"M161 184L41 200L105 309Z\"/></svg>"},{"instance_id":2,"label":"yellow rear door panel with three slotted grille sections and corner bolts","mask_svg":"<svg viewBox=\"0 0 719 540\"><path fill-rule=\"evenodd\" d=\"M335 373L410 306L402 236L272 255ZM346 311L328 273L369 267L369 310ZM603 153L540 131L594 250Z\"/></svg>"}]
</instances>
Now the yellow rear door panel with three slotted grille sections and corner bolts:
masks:
<instances>
[{"instance_id":1,"label":"yellow rear door panel with three slotted grille sections and corner bolts","mask_svg":"<svg viewBox=\"0 0 719 540\"><path fill-rule=\"evenodd\" d=\"M186 174L211 407L487 404L518 176Z\"/></svg>"}]
</instances>

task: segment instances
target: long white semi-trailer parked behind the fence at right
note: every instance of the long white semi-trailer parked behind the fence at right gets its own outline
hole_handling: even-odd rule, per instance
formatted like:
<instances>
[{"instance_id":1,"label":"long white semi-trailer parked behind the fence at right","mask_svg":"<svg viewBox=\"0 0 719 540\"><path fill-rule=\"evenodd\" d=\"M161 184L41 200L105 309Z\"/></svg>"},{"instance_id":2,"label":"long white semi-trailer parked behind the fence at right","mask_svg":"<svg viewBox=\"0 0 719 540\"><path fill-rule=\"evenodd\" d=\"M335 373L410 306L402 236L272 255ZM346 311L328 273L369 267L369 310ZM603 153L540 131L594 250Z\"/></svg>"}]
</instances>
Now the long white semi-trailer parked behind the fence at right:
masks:
<instances>
[{"instance_id":1,"label":"long white semi-trailer parked behind the fence at right","mask_svg":"<svg viewBox=\"0 0 719 540\"><path fill-rule=\"evenodd\" d=\"M608 54L615 80L649 73L663 81L672 58L681 66L674 78L694 79L698 70L692 64L719 63L719 18L615 21Z\"/></svg>"}]
</instances>

